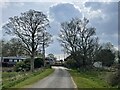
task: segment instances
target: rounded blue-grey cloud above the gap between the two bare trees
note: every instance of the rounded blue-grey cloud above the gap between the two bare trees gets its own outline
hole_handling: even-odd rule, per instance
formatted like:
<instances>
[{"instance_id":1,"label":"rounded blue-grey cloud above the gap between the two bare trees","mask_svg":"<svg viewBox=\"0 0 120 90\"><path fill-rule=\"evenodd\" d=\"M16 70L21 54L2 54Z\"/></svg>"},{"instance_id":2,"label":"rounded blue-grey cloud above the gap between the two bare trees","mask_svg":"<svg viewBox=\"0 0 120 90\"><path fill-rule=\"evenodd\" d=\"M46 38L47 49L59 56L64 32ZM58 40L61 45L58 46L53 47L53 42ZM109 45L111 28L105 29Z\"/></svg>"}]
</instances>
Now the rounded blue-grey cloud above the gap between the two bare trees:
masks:
<instances>
[{"instance_id":1,"label":"rounded blue-grey cloud above the gap between the two bare trees","mask_svg":"<svg viewBox=\"0 0 120 90\"><path fill-rule=\"evenodd\" d=\"M59 3L49 8L49 16L57 22L68 21L74 17L82 17L78 7L71 3Z\"/></svg>"}]
</instances>

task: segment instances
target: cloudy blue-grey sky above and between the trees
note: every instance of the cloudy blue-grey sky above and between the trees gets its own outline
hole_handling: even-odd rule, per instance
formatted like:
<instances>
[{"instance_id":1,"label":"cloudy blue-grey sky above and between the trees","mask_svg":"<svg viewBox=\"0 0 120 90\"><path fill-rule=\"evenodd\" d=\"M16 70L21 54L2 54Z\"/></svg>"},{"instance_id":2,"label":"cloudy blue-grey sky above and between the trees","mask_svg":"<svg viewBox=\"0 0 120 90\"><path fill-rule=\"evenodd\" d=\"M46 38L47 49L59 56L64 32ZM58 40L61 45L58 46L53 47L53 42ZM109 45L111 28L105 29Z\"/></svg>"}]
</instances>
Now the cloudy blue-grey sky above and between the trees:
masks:
<instances>
[{"instance_id":1,"label":"cloudy blue-grey sky above and between the trees","mask_svg":"<svg viewBox=\"0 0 120 90\"><path fill-rule=\"evenodd\" d=\"M0 18L2 19L0 26L4 25L9 17L20 15L21 12L29 9L42 11L48 16L51 26L48 31L53 35L54 42L46 49L46 54L53 53L57 58L63 58L62 47L57 41L60 23L74 17L88 18L90 25L96 28L100 43L111 42L115 48L118 47L118 0L98 0L98 2L94 2L95 0L5 1L0 0Z\"/></svg>"}]
</instances>

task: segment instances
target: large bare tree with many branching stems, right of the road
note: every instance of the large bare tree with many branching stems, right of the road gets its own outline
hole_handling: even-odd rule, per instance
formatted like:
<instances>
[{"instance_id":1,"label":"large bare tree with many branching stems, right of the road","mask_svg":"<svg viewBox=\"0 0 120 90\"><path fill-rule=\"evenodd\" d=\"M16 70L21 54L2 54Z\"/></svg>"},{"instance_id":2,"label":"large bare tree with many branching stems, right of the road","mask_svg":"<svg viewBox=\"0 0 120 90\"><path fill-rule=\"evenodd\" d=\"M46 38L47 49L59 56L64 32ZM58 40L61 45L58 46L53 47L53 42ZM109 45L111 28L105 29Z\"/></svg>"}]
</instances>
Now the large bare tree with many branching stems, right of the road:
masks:
<instances>
[{"instance_id":1,"label":"large bare tree with many branching stems, right of the road","mask_svg":"<svg viewBox=\"0 0 120 90\"><path fill-rule=\"evenodd\" d=\"M61 23L60 42L76 60L78 66L92 63L96 50L99 50L98 38L95 37L95 28L88 27L89 20L73 18ZM88 61L89 60L89 61Z\"/></svg>"}]
</instances>

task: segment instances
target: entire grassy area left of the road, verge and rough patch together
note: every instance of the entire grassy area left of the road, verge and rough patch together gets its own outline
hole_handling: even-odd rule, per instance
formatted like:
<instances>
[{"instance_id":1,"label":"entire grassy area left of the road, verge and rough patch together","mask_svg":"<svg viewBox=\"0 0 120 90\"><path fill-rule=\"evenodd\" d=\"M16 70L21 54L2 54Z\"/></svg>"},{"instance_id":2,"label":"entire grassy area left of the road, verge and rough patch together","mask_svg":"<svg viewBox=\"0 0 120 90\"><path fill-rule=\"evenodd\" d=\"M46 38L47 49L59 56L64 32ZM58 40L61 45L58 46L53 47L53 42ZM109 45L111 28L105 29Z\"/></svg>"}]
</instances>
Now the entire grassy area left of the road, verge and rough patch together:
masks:
<instances>
[{"instance_id":1,"label":"entire grassy area left of the road, verge and rough patch together","mask_svg":"<svg viewBox=\"0 0 120 90\"><path fill-rule=\"evenodd\" d=\"M31 73L17 73L17 72L4 72L2 73L3 78L3 89L4 88L22 88L26 85L37 82L38 80L48 76L54 70L53 69L43 69L37 72ZM21 74L21 75L19 75Z\"/></svg>"}]
</instances>

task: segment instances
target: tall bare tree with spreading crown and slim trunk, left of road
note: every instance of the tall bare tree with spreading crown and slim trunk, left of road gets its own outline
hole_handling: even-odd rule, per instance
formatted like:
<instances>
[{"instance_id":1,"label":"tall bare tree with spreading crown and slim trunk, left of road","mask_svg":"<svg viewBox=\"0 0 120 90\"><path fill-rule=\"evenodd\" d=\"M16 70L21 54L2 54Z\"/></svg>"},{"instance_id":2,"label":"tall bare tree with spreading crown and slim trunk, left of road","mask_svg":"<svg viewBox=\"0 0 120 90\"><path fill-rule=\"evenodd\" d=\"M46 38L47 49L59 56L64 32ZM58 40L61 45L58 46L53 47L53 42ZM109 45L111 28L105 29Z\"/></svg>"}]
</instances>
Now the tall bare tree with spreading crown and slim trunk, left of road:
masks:
<instances>
[{"instance_id":1,"label":"tall bare tree with spreading crown and slim trunk, left of road","mask_svg":"<svg viewBox=\"0 0 120 90\"><path fill-rule=\"evenodd\" d=\"M9 18L3 26L8 34L14 34L25 44L25 49L31 56L31 71L34 71L34 57L38 46L43 42L43 32L49 27L49 20L42 12L29 10L21 16Z\"/></svg>"}]
</instances>

